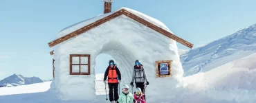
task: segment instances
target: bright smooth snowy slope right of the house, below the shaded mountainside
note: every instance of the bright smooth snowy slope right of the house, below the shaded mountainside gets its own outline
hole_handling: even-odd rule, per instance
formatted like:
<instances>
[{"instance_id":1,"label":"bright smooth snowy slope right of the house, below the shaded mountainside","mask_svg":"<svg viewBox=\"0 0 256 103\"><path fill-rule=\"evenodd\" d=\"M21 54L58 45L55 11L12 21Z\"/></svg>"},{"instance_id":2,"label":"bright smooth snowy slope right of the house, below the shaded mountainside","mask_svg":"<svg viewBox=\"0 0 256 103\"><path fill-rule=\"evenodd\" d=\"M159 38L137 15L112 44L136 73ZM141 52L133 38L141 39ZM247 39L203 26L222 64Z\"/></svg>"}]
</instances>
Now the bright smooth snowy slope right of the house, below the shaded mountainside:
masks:
<instances>
[{"instance_id":1,"label":"bright smooth snowy slope right of the house, below the shaded mountainside","mask_svg":"<svg viewBox=\"0 0 256 103\"><path fill-rule=\"evenodd\" d=\"M228 62L225 65L185 77L186 86L195 95L190 102L256 102L256 54ZM194 92L192 93L191 92ZM199 99L201 98L201 99ZM192 98L191 98L192 99Z\"/></svg>"}]
</instances>

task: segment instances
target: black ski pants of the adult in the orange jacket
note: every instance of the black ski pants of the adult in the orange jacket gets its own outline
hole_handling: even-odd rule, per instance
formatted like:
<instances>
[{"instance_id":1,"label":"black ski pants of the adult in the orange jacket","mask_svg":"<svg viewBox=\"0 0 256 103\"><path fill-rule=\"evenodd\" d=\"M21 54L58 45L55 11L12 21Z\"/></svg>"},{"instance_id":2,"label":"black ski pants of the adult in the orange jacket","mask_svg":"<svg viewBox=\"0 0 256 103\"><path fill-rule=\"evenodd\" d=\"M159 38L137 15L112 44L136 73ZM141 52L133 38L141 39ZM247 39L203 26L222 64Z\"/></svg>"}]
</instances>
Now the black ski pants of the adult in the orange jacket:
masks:
<instances>
[{"instance_id":1,"label":"black ski pants of the adult in the orange jacket","mask_svg":"<svg viewBox=\"0 0 256 103\"><path fill-rule=\"evenodd\" d=\"M109 83L109 100L110 102L118 101L118 83Z\"/></svg>"}]
</instances>

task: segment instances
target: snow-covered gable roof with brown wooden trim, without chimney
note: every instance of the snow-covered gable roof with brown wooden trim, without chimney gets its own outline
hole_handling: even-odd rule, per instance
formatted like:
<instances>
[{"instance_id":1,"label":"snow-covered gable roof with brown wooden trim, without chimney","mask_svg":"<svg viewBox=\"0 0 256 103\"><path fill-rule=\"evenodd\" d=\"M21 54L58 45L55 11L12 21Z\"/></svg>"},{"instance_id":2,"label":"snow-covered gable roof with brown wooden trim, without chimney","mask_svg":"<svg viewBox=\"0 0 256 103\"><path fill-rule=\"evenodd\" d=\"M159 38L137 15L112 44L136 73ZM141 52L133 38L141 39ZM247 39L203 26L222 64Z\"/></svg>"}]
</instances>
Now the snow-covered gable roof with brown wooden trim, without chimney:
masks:
<instances>
[{"instance_id":1,"label":"snow-covered gable roof with brown wooden trim, without chimney","mask_svg":"<svg viewBox=\"0 0 256 103\"><path fill-rule=\"evenodd\" d=\"M64 30L60 31L58 38L48 43L48 45L49 47L53 47L57 44L62 43L63 41L68 40L69 38L73 38L79 34L82 34L83 32L86 32L87 30L91 30L93 27L97 27L98 25L101 25L102 23L105 23L111 19L114 19L117 16L120 16L122 14L124 14L125 16L128 16L131 19L134 19L139 23L142 23L147 27L152 28L153 30L156 30L157 32L160 32L161 34L169 38L172 38L174 41L177 41L190 48L193 47L192 43L189 43L188 41L185 41L182 38L175 36L174 33L170 31L168 27L164 25L161 21L158 21L136 10L131 10L129 8L124 8L124 7L116 10L115 12L101 14L91 19L87 19L85 21L81 21L80 23L76 23L74 25L66 27Z\"/></svg>"}]
</instances>

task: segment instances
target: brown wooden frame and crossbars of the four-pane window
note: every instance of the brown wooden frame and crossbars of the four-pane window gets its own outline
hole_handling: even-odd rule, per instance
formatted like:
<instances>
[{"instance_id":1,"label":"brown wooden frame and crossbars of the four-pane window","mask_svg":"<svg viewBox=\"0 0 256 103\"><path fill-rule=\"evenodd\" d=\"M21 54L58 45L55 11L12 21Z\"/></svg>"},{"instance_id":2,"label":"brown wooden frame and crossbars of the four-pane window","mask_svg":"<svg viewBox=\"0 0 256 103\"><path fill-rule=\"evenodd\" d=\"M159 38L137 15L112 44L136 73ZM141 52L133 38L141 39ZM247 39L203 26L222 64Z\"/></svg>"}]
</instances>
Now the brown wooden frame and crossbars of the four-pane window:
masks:
<instances>
[{"instance_id":1,"label":"brown wooden frame and crossbars of the four-pane window","mask_svg":"<svg viewBox=\"0 0 256 103\"><path fill-rule=\"evenodd\" d=\"M88 62L87 64L81 64L81 57L87 57ZM79 64L72 64L72 57L79 57ZM90 54L70 54L69 58L69 74L70 75L90 75ZM72 73L72 65L79 65L79 73ZM88 66L88 73L81 73L81 65L87 65Z\"/></svg>"}]
</instances>

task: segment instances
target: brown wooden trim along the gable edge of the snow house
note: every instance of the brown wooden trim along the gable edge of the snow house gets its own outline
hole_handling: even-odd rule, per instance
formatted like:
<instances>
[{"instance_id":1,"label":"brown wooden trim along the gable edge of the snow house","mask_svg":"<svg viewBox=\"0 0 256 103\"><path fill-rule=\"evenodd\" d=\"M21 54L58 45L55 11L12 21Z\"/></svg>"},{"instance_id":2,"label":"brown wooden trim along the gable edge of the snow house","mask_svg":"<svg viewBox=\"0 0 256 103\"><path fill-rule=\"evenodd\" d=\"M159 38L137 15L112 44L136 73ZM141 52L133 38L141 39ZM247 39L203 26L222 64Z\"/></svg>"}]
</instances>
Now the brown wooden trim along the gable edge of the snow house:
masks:
<instances>
[{"instance_id":1,"label":"brown wooden trim along the gable edge of the snow house","mask_svg":"<svg viewBox=\"0 0 256 103\"><path fill-rule=\"evenodd\" d=\"M95 21L94 23L91 23L89 25L86 25L82 28L80 28L79 30L76 30L75 32L71 32L70 34L67 34L66 36L62 36L61 38L57 38L55 41L52 41L50 43L48 43L49 47L53 47L59 43L62 43L63 41L68 40L69 38L73 38L74 36L77 36L79 34L82 34L83 32L86 32L87 30L91 30L93 27L97 27L98 25L101 25L102 23L105 23L107 21L110 21L111 19L116 18L117 16L120 16L122 14L125 14L125 16L128 16L131 19L134 19L135 21L138 21L139 23L152 28L153 30L156 30L156 32L159 32L169 38L172 38L174 41L177 41L183 45L185 45L186 47L193 47L192 43L189 43L188 41L185 41L183 38L180 38L170 32L167 32L166 30L163 30L161 27L158 27L156 25L154 25L153 23L150 23L149 21L146 21L145 19L140 18L139 16L137 16L136 14L133 14L127 10L119 10L118 12L115 12L113 14L110 14L109 16L104 17L103 19L100 19L98 21Z\"/></svg>"}]
</instances>

